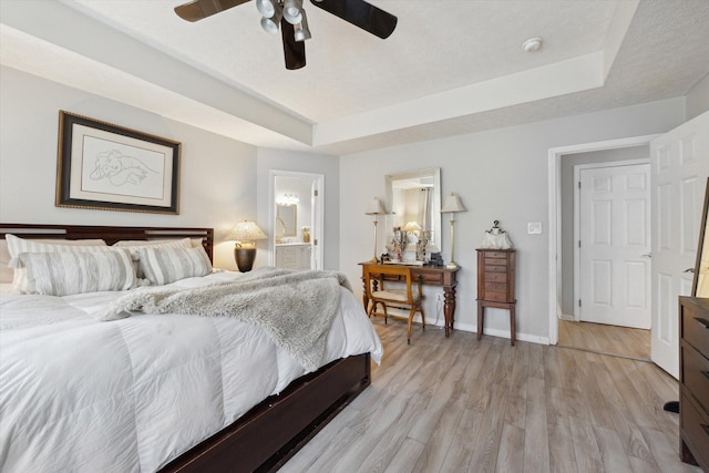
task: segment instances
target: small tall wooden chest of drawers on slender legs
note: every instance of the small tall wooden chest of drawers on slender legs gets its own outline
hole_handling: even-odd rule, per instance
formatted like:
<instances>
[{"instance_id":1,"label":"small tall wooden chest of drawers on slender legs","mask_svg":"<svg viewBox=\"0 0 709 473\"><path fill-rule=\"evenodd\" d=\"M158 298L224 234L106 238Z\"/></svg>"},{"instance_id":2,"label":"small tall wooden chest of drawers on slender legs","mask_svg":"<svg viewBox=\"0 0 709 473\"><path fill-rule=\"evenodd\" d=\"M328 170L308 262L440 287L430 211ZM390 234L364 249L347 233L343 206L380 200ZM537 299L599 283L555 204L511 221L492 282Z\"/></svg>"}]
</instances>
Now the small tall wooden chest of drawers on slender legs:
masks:
<instances>
[{"instance_id":1,"label":"small tall wooden chest of drawers on slender legs","mask_svg":"<svg viewBox=\"0 0 709 473\"><path fill-rule=\"evenodd\" d=\"M510 310L510 342L515 342L514 249L477 249L477 340L485 308Z\"/></svg>"}]
</instances>

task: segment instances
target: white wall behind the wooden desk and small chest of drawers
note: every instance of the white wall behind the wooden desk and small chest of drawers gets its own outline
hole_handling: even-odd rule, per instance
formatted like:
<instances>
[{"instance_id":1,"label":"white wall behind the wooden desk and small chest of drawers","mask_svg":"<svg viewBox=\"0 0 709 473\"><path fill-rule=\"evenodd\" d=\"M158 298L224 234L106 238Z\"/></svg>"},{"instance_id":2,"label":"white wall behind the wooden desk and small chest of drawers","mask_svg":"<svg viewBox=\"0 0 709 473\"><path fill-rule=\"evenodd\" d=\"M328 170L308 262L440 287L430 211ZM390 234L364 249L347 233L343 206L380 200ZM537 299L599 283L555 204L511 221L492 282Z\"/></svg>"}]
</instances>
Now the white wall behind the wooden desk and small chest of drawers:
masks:
<instances>
[{"instance_id":1,"label":"white wall behind the wooden desk and small chest of drawers","mask_svg":"<svg viewBox=\"0 0 709 473\"><path fill-rule=\"evenodd\" d=\"M361 276L358 263L372 251L371 219L364 208L372 196L386 198L384 174L441 167L442 195L454 191L467 212L455 216L459 273L456 328L476 327L476 254L483 232L499 219L517 249L517 335L548 338L548 150L582 143L662 133L684 122L684 97L598 113L492 130L470 135L342 156L340 160L340 268L350 280ZM542 235L527 235L527 223L541 222ZM443 217L443 256L450 259L448 217ZM380 235L383 232L380 233ZM380 243L381 245L381 243ZM354 284L361 294L360 285ZM434 289L429 289L427 294ZM435 318L434 298L427 301ZM490 310L486 329L508 332L506 311Z\"/></svg>"}]
</instances>

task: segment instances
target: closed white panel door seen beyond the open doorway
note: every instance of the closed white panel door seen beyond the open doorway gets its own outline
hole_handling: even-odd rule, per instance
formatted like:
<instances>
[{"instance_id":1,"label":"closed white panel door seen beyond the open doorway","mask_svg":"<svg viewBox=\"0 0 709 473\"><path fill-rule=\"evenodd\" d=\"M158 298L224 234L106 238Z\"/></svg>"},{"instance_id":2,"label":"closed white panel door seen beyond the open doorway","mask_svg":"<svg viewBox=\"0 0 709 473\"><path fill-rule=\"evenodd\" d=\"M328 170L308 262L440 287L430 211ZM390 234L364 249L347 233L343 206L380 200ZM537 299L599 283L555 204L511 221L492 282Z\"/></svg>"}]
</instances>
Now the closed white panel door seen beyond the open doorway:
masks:
<instances>
[{"instance_id":1,"label":"closed white panel door seen beyond the open doorway","mask_svg":"<svg viewBox=\"0 0 709 473\"><path fill-rule=\"evenodd\" d=\"M650 166L579 176L580 320L649 329Z\"/></svg>"}]
</instances>

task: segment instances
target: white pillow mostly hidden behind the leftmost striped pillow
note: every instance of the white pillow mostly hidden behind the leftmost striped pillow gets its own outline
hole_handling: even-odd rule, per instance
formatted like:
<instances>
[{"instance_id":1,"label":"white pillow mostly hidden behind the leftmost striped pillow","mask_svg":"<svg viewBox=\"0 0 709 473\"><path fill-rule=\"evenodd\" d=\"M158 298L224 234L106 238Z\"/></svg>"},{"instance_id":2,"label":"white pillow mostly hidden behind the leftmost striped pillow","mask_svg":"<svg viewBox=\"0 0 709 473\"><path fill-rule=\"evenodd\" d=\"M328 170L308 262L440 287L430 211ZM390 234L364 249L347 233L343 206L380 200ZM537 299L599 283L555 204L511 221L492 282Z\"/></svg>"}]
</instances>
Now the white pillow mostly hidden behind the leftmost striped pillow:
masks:
<instances>
[{"instance_id":1,"label":"white pillow mostly hidden behind the leftmost striped pillow","mask_svg":"<svg viewBox=\"0 0 709 473\"><path fill-rule=\"evenodd\" d=\"M75 253L75 251L106 251L111 247L102 239L78 240L35 240L20 238L6 234L10 261L8 266L14 268L12 277L12 292L27 292L27 277L22 264L18 260L21 253Z\"/></svg>"}]
</instances>

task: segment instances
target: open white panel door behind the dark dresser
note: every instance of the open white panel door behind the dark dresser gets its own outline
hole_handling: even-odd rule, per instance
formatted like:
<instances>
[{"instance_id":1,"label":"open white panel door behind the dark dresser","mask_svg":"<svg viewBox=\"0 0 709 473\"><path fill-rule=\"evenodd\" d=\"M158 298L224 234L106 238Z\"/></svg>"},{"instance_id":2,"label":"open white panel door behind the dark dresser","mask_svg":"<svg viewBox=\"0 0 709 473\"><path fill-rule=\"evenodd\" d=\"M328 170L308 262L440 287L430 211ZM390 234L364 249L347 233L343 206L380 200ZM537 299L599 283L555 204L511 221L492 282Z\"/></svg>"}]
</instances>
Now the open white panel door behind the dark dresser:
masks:
<instances>
[{"instance_id":1,"label":"open white panel door behind the dark dresser","mask_svg":"<svg viewBox=\"0 0 709 473\"><path fill-rule=\"evenodd\" d=\"M650 143L653 198L651 359L679 377L678 296L691 291L709 175L709 112Z\"/></svg>"}]
</instances>

